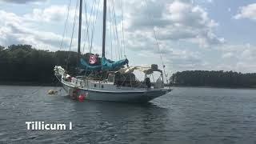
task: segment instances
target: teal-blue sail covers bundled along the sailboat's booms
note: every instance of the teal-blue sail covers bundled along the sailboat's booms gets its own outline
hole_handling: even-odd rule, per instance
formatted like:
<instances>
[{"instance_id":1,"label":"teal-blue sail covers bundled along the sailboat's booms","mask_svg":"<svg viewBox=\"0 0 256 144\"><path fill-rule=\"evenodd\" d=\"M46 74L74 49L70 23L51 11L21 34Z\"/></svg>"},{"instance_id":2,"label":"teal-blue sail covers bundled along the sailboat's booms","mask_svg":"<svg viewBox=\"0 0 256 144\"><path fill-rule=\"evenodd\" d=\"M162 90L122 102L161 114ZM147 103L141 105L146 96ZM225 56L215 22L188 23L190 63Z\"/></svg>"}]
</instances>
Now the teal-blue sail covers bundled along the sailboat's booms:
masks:
<instances>
[{"instance_id":1,"label":"teal-blue sail covers bundled along the sailboat's booms","mask_svg":"<svg viewBox=\"0 0 256 144\"><path fill-rule=\"evenodd\" d=\"M129 61L126 58L126 59L122 59L120 61L114 62L114 61L110 61L110 60L106 59L105 57L102 57L102 65L101 66L90 66L82 58L80 59L80 62L82 65L82 69L94 71L94 70L114 70L114 68L116 68L118 66L123 66L123 65L128 64Z\"/></svg>"}]
</instances>

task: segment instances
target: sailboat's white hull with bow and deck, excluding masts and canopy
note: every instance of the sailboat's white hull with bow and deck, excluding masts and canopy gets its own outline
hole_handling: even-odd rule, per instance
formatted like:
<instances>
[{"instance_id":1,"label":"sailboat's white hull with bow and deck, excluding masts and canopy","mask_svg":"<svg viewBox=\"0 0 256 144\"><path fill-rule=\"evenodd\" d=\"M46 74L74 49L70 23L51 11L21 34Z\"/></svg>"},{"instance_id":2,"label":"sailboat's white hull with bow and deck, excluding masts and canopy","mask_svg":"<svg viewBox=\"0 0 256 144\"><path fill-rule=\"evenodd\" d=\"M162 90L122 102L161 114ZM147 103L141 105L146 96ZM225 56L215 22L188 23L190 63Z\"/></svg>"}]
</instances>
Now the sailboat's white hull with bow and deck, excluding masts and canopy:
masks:
<instances>
[{"instance_id":1,"label":"sailboat's white hull with bow and deck, excluding masts and canopy","mask_svg":"<svg viewBox=\"0 0 256 144\"><path fill-rule=\"evenodd\" d=\"M115 84L111 80L99 81L79 76L66 78L65 70L58 66L55 66L54 71L56 78L62 82L66 93L74 99L79 99L79 96L83 95L86 100L95 101L149 102L171 91L170 89L158 88L158 86L154 86L154 88L124 86Z\"/></svg>"}]
</instances>

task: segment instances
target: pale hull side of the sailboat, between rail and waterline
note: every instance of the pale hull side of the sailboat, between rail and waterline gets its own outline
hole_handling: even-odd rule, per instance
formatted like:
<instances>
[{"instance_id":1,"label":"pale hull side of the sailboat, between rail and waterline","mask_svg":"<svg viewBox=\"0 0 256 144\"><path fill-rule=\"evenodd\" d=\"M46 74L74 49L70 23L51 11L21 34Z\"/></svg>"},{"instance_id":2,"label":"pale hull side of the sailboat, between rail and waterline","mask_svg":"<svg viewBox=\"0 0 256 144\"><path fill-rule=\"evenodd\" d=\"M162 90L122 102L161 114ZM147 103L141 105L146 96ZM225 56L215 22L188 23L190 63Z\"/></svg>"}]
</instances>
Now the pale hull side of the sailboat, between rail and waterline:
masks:
<instances>
[{"instance_id":1,"label":"pale hull side of the sailboat, between rail and waterline","mask_svg":"<svg viewBox=\"0 0 256 144\"><path fill-rule=\"evenodd\" d=\"M75 86L71 86L67 83L63 83L63 88L68 94L71 95L72 90ZM158 98L170 90L166 89L130 89L130 90L86 90L78 88L78 95L86 95L85 100L95 100L95 101L110 101L110 102L149 102L154 98Z\"/></svg>"}]
</instances>

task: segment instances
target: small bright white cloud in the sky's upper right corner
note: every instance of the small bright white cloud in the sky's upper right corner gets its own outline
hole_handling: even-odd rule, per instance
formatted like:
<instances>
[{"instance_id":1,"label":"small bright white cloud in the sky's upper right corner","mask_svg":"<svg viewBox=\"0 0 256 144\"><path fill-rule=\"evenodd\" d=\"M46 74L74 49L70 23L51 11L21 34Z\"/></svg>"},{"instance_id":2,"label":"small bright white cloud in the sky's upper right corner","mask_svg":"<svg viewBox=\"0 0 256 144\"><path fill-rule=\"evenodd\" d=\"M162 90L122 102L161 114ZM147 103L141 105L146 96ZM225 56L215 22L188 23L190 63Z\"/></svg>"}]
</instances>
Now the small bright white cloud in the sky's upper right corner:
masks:
<instances>
[{"instance_id":1,"label":"small bright white cloud in the sky's upper right corner","mask_svg":"<svg viewBox=\"0 0 256 144\"><path fill-rule=\"evenodd\" d=\"M234 16L235 19L249 18L256 20L256 3L252 3L248 6L242 6L239 8L238 14Z\"/></svg>"}]
</instances>

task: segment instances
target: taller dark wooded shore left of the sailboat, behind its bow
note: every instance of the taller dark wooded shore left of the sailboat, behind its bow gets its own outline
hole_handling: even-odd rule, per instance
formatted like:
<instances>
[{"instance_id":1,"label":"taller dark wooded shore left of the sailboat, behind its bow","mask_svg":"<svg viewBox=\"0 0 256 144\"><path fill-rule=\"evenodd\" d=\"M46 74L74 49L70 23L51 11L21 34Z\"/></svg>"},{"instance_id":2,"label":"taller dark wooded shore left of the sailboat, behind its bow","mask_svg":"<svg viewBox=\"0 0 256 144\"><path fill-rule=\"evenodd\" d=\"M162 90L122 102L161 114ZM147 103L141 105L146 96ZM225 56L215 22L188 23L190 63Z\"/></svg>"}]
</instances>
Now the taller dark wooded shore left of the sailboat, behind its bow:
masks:
<instances>
[{"instance_id":1,"label":"taller dark wooded shore left of the sailboat, behind its bow","mask_svg":"<svg viewBox=\"0 0 256 144\"><path fill-rule=\"evenodd\" d=\"M0 46L0 84L53 85L56 65L74 74L77 53L37 50L30 45Z\"/></svg>"}]
</instances>

